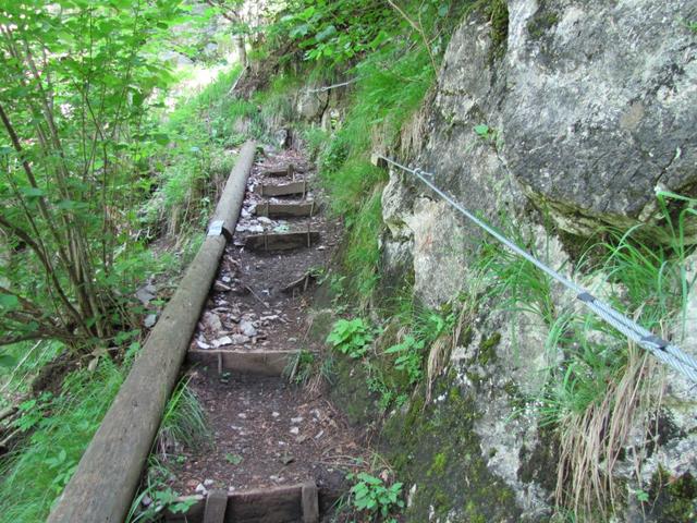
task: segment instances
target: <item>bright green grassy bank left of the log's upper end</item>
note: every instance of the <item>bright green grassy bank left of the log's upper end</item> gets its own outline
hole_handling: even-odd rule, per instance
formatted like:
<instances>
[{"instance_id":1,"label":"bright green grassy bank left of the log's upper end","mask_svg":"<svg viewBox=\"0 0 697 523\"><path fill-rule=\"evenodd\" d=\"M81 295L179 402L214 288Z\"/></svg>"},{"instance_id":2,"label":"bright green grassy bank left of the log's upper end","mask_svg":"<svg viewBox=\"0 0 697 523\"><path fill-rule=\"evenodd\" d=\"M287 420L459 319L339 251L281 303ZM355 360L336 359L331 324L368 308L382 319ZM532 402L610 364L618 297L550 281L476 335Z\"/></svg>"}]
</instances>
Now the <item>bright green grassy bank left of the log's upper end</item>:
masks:
<instances>
[{"instance_id":1,"label":"bright green grassy bank left of the log's upper end","mask_svg":"<svg viewBox=\"0 0 697 523\"><path fill-rule=\"evenodd\" d=\"M234 165L232 149L260 133L256 106L229 95L240 73L240 68L220 73L164 115L158 136L167 147L151 160L156 175L146 182L154 191L143 210L150 238L162 228L170 235L205 229Z\"/></svg>"}]
</instances>

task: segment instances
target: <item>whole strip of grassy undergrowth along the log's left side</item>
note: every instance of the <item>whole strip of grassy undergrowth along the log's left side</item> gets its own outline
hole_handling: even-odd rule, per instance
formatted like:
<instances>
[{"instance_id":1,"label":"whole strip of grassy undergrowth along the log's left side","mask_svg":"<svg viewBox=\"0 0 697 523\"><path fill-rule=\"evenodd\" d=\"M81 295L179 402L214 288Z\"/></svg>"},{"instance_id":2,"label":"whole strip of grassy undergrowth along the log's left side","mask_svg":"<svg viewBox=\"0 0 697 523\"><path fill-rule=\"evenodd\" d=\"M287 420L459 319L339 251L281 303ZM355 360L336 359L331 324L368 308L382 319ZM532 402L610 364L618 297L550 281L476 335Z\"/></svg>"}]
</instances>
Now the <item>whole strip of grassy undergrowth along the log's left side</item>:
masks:
<instances>
[{"instance_id":1,"label":"whole strip of grassy undergrowth along the log's left side","mask_svg":"<svg viewBox=\"0 0 697 523\"><path fill-rule=\"evenodd\" d=\"M228 96L239 73L239 69L223 72L199 93L184 97L174 110L160 114L163 121L144 124L154 139L142 144L138 161L149 168L149 175L131 187L134 205L129 209L130 229L123 231L134 241L119 245L109 273L97 277L111 281L123 296L132 296L152 279L159 292L148 311L129 302L112 312L119 329L108 346L114 360L103 348L94 346L80 362L63 361L62 345L52 341L22 342L3 350L2 401L26 400L20 403L22 416L16 422L23 438L0 461L0 521L46 519L127 374L139 346L137 327L143 317L163 305L164 282L197 252L217 187L234 163L232 150L261 132L256 106ZM154 240L160 242L154 246ZM78 369L64 377L64 368ZM50 392L41 392L45 389ZM191 421L194 412L187 411L185 417ZM179 422L172 424L168 437L186 439L176 433L178 426Z\"/></svg>"}]
</instances>

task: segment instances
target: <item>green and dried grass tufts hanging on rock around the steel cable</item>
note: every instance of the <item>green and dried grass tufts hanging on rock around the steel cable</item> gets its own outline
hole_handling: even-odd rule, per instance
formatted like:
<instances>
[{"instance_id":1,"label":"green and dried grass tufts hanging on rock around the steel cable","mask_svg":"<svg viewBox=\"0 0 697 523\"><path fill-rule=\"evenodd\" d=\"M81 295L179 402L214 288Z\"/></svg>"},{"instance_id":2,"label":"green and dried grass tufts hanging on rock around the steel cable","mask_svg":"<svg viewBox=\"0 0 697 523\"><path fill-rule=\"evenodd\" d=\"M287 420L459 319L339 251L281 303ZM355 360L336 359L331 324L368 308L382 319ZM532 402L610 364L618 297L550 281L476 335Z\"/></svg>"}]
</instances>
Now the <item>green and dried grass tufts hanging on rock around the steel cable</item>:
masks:
<instances>
[{"instance_id":1,"label":"green and dried grass tufts hanging on rock around the steel cable","mask_svg":"<svg viewBox=\"0 0 697 523\"><path fill-rule=\"evenodd\" d=\"M598 299L663 338L674 335L680 344L688 292L695 284L686 265L693 247L685 238L697 200L659 193L658 204L667 242L648 240L652 226L599 231L602 240L586 247L575 273ZM549 263L549 252L535 252L531 234L504 232ZM523 399L518 409L535 411L543 429L554 434L561 457L555 491L560 513L571 512L576 521L611 518L626 502L626 488L600 461L621 459L629 427L643 427L647 435L656 430L649 419L659 417L658 364L598 316L576 306L573 295L561 297L547 275L500 245L485 243L479 269L486 297L512 314L511 325L524 313L547 332L547 385L539 394ZM643 492L648 486L639 471L637 464L633 489Z\"/></svg>"}]
</instances>

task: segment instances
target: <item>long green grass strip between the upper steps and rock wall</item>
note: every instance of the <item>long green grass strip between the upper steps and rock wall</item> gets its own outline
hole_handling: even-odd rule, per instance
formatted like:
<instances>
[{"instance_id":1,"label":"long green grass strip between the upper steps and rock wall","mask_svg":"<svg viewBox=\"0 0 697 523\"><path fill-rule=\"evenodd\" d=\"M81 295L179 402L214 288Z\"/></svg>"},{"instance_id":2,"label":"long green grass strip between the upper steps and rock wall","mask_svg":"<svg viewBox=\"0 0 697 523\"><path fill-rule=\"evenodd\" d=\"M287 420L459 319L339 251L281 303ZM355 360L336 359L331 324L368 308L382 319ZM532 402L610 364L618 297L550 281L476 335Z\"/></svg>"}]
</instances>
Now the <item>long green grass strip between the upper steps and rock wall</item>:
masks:
<instances>
[{"instance_id":1,"label":"long green grass strip between the upper steps and rock wall","mask_svg":"<svg viewBox=\"0 0 697 523\"><path fill-rule=\"evenodd\" d=\"M366 305L379 282L381 191L387 181L387 172L370 163L370 155L374 147L399 146L400 132L419 109L435 74L428 53L403 53L398 47L371 54L353 74L360 80L341 126L331 134L310 130L306 136L318 156L331 210L346 226L346 290Z\"/></svg>"}]
</instances>

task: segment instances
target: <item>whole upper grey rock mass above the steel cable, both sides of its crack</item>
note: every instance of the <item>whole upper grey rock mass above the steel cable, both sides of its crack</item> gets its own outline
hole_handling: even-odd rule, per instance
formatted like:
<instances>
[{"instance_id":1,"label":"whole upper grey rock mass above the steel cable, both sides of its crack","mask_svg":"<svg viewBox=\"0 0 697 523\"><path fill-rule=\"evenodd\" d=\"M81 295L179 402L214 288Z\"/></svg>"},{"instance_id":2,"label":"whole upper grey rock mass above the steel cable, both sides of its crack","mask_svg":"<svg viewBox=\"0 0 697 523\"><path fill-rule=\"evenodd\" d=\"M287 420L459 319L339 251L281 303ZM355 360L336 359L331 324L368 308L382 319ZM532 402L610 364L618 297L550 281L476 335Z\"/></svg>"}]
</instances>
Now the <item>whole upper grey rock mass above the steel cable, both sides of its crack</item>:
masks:
<instances>
[{"instance_id":1,"label":"whole upper grey rock mass above the steel cable, both sides of its crack","mask_svg":"<svg viewBox=\"0 0 697 523\"><path fill-rule=\"evenodd\" d=\"M502 59L470 17L445 54L423 167L490 217L525 194L574 234L656 219L657 187L697 194L696 16L688 0L511 0Z\"/></svg>"}]
</instances>

